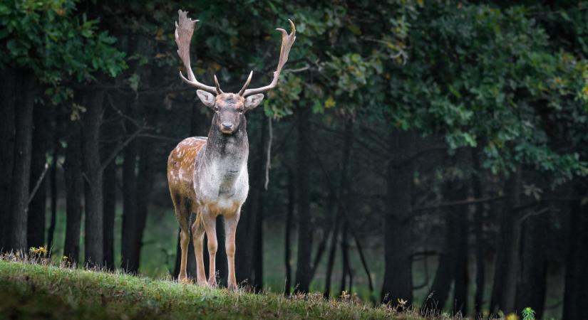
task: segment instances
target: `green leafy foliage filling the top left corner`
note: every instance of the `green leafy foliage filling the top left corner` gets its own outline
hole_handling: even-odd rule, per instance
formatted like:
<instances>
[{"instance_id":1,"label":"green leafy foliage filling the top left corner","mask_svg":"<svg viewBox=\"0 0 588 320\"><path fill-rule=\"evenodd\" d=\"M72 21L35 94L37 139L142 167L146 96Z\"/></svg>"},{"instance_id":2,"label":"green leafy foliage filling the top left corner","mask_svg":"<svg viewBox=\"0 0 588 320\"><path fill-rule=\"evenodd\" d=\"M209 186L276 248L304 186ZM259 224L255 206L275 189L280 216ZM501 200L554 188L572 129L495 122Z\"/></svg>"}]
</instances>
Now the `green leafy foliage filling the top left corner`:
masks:
<instances>
[{"instance_id":1,"label":"green leafy foliage filling the top left corner","mask_svg":"<svg viewBox=\"0 0 588 320\"><path fill-rule=\"evenodd\" d=\"M0 68L30 73L53 102L71 95L75 82L115 77L125 68L116 39L100 31L98 20L76 12L76 1L4 1L0 4ZM65 83L64 83L65 82Z\"/></svg>"}]
</instances>

